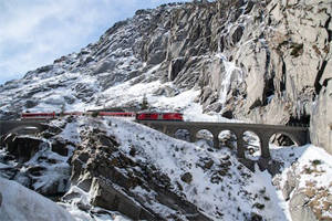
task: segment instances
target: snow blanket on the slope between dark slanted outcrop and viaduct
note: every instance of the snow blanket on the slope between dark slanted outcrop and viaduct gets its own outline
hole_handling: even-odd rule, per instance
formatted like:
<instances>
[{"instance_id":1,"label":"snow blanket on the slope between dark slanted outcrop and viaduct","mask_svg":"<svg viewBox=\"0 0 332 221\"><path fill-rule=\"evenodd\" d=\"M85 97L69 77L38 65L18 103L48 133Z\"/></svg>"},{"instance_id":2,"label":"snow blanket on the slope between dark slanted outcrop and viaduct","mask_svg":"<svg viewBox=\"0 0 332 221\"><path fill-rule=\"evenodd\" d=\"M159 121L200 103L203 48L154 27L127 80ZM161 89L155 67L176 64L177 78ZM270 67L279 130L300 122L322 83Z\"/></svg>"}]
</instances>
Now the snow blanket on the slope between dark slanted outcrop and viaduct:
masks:
<instances>
[{"instance_id":1,"label":"snow blanket on the slope between dark slanted outcrop and viaduct","mask_svg":"<svg viewBox=\"0 0 332 221\"><path fill-rule=\"evenodd\" d=\"M77 125L90 127L96 124L95 120L80 118ZM284 220L283 213L277 215L273 212L283 210L273 187L264 182L267 175L252 173L236 159L231 150L212 150L204 141L189 144L177 140L122 119L107 118L101 123L98 129L116 138L123 156L133 160L133 164L153 165L159 175L168 177L170 189L176 194L183 194L210 219L245 220L261 215L270 220ZM120 171L126 172L124 169ZM256 182L258 178L262 180L259 185ZM141 189L134 186L133 191L137 193ZM143 191L139 194L158 194L153 192L145 194ZM157 202L149 204L152 208L158 209L158 212L169 211L169 208L165 209Z\"/></svg>"}]
</instances>

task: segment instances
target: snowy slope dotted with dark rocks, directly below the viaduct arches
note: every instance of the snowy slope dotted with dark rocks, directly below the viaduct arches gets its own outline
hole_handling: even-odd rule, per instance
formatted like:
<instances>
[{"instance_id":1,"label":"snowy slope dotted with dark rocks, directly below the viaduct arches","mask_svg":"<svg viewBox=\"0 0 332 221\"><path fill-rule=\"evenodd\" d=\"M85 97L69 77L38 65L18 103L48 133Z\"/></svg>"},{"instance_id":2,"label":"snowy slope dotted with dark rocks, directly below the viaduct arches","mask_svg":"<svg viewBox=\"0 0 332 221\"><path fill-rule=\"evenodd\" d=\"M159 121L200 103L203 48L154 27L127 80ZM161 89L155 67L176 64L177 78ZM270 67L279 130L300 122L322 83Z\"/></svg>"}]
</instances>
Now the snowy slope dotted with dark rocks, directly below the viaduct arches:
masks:
<instances>
[{"instance_id":1,"label":"snowy slope dotted with dark rocks, directly below the viaduct arches","mask_svg":"<svg viewBox=\"0 0 332 221\"><path fill-rule=\"evenodd\" d=\"M169 176L173 183L179 182L184 187L187 199L201 208L212 219L216 214L222 213L224 220L245 220L243 213L252 211L252 201L266 204L262 210L256 209L258 214L263 214L268 220L284 220L286 215L279 207L281 201L276 196L276 189L268 181L268 173L257 171L253 177L242 176L250 173L247 168L239 170L240 162L229 149L209 151L210 148L204 140L196 144L177 140L155 131L151 128L129 122L112 119L112 125L117 127L108 128L108 131L121 139L122 148L128 152L131 145L143 147L139 150L142 160L158 166ZM106 119L106 124L110 123ZM229 158L229 161L227 160ZM201 166L205 160L212 160L210 169ZM216 176L224 164L230 164L225 176ZM180 180L185 172L193 175L190 185ZM220 179L220 181L217 181ZM262 192L255 197L253 192ZM252 196L251 196L252 194ZM270 200L264 200L269 198ZM231 202L231 203L230 203ZM279 211L279 212L276 212Z\"/></svg>"}]
</instances>

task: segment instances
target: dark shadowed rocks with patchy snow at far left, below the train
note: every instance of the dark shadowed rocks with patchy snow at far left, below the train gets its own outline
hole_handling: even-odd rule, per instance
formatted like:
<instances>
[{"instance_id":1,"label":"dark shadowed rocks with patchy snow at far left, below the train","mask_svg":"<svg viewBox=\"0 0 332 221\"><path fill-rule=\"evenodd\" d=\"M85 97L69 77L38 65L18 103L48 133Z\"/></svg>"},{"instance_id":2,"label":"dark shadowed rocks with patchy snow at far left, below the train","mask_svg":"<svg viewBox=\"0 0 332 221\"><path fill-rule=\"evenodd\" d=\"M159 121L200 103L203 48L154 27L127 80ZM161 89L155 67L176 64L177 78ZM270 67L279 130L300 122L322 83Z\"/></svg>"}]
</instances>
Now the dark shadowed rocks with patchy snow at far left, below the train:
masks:
<instances>
[{"instance_id":1,"label":"dark shadowed rocks with patchy snow at far left, below the train","mask_svg":"<svg viewBox=\"0 0 332 221\"><path fill-rule=\"evenodd\" d=\"M54 148L44 139L14 134L8 135L3 144L6 154L0 161L7 167L0 168L1 177L48 197L68 191L71 170L66 148L61 146L61 149L59 143Z\"/></svg>"}]
</instances>

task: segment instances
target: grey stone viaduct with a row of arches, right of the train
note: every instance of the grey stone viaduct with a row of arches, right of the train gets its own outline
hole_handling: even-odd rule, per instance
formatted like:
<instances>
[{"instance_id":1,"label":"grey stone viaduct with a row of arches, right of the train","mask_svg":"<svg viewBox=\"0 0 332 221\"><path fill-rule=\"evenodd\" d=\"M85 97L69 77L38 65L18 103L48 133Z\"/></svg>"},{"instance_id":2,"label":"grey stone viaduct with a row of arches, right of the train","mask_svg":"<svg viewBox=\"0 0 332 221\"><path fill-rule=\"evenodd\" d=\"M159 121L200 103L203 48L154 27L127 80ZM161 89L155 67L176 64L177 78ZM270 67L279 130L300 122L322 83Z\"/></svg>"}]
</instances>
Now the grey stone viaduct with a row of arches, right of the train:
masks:
<instances>
[{"instance_id":1,"label":"grey stone viaduct with a row of arches, right of the train","mask_svg":"<svg viewBox=\"0 0 332 221\"><path fill-rule=\"evenodd\" d=\"M297 145L304 145L310 141L307 127L293 127L283 125L263 125L263 124L238 124L238 123L206 123L206 122L157 122L157 120L141 120L138 122L148 127L165 133L172 137L179 129L186 129L190 134L190 141L196 140L196 135L199 130L206 129L214 136L214 146L219 148L219 134L224 130L230 130L237 136L237 155L239 158L245 157L243 133L252 131L260 139L261 157L269 159L270 149L269 140L273 135L282 134L292 139Z\"/></svg>"}]
</instances>

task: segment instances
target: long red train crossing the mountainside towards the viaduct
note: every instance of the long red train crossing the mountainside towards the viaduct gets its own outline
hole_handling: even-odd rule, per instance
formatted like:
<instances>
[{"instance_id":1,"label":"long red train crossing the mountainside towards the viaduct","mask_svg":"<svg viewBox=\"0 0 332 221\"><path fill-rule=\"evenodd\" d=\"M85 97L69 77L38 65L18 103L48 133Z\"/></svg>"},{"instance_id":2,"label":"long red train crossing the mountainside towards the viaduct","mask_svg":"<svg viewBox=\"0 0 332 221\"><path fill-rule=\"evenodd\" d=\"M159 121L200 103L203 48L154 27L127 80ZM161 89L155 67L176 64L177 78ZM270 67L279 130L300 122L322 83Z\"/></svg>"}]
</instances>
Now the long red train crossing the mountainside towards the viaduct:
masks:
<instances>
[{"instance_id":1,"label":"long red train crossing the mountainside towards the viaduct","mask_svg":"<svg viewBox=\"0 0 332 221\"><path fill-rule=\"evenodd\" d=\"M72 113L22 113L21 119L54 119L61 116L82 116L92 115L95 116L113 116L113 117L135 117L136 120L176 120L183 122L184 117L181 113L134 113L134 112L72 112Z\"/></svg>"}]
</instances>

